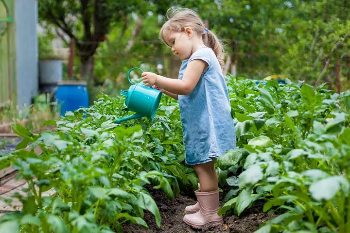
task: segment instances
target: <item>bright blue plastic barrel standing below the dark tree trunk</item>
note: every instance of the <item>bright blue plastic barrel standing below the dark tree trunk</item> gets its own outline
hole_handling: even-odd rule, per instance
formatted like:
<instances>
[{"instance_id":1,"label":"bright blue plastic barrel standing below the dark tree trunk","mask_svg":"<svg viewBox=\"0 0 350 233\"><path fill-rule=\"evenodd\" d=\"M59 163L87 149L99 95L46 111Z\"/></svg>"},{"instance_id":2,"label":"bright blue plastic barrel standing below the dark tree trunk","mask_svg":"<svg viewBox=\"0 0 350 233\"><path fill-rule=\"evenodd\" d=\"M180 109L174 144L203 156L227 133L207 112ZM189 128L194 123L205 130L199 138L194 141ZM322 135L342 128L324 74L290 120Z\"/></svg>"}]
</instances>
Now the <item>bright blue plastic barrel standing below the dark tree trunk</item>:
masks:
<instances>
[{"instance_id":1,"label":"bright blue plastic barrel standing below the dark tree trunk","mask_svg":"<svg viewBox=\"0 0 350 233\"><path fill-rule=\"evenodd\" d=\"M60 115L74 111L81 107L88 107L88 89L86 82L62 81L58 83L56 92Z\"/></svg>"}]
</instances>

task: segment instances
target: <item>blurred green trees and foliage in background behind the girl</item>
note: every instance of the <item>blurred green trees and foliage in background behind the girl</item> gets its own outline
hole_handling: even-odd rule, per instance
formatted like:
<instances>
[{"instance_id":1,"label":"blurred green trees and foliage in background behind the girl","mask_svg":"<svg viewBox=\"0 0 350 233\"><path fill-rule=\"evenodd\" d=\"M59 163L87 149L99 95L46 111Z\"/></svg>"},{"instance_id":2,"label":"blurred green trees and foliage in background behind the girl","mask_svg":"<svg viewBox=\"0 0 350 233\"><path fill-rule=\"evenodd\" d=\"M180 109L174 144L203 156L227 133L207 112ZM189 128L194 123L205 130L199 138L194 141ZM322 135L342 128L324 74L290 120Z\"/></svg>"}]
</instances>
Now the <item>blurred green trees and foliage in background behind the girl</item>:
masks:
<instances>
[{"instance_id":1,"label":"blurred green trees and foliage in background behind the girl","mask_svg":"<svg viewBox=\"0 0 350 233\"><path fill-rule=\"evenodd\" d=\"M208 20L210 30L224 40L238 76L262 79L278 75L312 85L330 82L336 91L350 88L347 0L102 2L105 12L92 0L39 1L40 22L63 28L77 39L76 77L86 71L87 54L93 57L90 75L96 93L118 95L127 86L126 72L131 67L157 72L161 64L164 75L176 78L180 62L158 39L165 12L175 5L191 8ZM94 19L102 20L102 31L96 28L102 24ZM97 35L102 36L96 39Z\"/></svg>"}]
</instances>

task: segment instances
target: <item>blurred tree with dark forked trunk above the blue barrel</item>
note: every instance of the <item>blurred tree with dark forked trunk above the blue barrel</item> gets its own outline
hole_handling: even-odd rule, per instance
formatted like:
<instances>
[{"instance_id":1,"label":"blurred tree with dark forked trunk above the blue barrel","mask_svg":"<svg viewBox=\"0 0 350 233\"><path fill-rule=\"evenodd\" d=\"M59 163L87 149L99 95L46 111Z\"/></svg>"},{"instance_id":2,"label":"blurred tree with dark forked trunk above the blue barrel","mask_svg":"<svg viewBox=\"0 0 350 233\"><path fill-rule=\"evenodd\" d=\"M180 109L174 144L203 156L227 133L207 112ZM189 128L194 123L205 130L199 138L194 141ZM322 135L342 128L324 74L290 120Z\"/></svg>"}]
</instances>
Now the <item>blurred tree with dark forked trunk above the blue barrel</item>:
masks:
<instances>
[{"instance_id":1,"label":"blurred tree with dark forked trunk above the blue barrel","mask_svg":"<svg viewBox=\"0 0 350 233\"><path fill-rule=\"evenodd\" d=\"M40 0L39 19L75 40L81 75L93 79L94 54L112 23L127 25L129 14L143 14L148 7L144 0Z\"/></svg>"}]
</instances>

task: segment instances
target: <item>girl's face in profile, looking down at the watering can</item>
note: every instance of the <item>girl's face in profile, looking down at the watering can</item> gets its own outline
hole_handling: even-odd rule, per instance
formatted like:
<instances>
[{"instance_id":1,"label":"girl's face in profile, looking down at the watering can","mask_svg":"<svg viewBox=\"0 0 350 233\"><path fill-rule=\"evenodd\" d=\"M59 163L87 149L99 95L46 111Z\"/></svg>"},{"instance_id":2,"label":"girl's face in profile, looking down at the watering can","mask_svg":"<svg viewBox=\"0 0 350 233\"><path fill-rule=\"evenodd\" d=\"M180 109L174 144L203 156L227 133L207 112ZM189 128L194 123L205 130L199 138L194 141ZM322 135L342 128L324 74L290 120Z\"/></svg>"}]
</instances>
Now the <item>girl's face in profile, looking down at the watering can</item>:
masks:
<instances>
[{"instance_id":1,"label":"girl's face in profile, looking down at the watering can","mask_svg":"<svg viewBox=\"0 0 350 233\"><path fill-rule=\"evenodd\" d=\"M190 58L193 50L192 33L168 32L166 42L171 47L172 52L181 60Z\"/></svg>"}]
</instances>

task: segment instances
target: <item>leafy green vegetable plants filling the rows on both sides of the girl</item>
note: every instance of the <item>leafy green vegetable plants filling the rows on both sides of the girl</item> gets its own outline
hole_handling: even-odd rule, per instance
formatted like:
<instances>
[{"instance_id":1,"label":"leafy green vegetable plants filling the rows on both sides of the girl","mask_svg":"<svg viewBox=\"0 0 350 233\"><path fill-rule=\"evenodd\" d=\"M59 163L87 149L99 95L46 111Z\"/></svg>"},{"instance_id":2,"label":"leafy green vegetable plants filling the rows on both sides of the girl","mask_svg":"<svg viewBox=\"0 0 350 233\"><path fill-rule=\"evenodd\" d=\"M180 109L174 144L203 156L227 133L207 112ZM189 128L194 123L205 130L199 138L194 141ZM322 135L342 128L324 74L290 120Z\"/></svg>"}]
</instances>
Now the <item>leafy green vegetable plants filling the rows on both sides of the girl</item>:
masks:
<instances>
[{"instance_id":1,"label":"leafy green vegetable plants filling the rows on both sides of the girl","mask_svg":"<svg viewBox=\"0 0 350 233\"><path fill-rule=\"evenodd\" d=\"M264 200L263 211L278 217L259 233L347 232L350 91L288 80L256 85L227 76L227 82L237 150L217 160L221 185L232 186L219 214L240 215ZM23 141L0 155L0 169L13 165L28 188L14 197L22 210L0 217L0 232L122 232L128 222L147 227L144 210L159 226L156 202L144 185L174 198L198 182L184 165L178 105L163 98L154 120L114 123L127 115L122 98L101 95L89 108L46 121L55 132L34 135L14 125ZM54 194L45 195L50 189Z\"/></svg>"}]
</instances>

